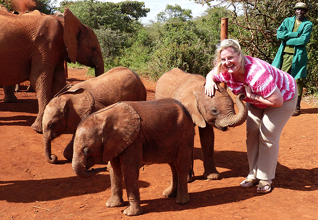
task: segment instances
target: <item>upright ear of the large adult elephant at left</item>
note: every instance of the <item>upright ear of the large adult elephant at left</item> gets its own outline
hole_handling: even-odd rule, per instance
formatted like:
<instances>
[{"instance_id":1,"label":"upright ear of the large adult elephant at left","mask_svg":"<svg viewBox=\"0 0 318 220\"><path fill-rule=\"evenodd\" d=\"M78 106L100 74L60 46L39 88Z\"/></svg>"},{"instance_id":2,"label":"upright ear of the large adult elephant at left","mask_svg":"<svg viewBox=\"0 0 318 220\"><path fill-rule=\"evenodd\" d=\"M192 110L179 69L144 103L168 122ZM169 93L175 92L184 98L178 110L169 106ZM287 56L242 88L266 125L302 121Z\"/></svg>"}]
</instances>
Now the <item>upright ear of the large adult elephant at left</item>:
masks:
<instances>
[{"instance_id":1,"label":"upright ear of the large adult elephant at left","mask_svg":"<svg viewBox=\"0 0 318 220\"><path fill-rule=\"evenodd\" d=\"M82 22L68 9L64 10L64 43L68 51L68 58L75 64L77 45L81 33Z\"/></svg>"}]
</instances>

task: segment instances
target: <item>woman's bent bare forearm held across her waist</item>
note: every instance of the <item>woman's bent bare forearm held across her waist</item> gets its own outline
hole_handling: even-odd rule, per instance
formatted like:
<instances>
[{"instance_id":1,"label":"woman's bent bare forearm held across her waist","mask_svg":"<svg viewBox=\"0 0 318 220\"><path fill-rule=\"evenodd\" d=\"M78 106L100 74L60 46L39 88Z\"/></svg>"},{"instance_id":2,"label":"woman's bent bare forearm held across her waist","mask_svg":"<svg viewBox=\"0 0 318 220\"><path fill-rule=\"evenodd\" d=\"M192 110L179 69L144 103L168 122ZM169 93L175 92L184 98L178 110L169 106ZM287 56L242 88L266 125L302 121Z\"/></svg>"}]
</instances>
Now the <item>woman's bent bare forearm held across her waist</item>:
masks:
<instances>
[{"instance_id":1,"label":"woman's bent bare forearm held across her waist","mask_svg":"<svg viewBox=\"0 0 318 220\"><path fill-rule=\"evenodd\" d=\"M253 100L253 101L263 103L263 104L270 106L270 107L281 107L283 105L284 99L283 99L281 92L279 91L279 89L277 87L273 91L273 93L267 98L264 98L261 95L254 94L252 92L250 86L248 86L248 85L244 85L244 87L245 87L246 94L247 94L248 98Z\"/></svg>"}]
</instances>

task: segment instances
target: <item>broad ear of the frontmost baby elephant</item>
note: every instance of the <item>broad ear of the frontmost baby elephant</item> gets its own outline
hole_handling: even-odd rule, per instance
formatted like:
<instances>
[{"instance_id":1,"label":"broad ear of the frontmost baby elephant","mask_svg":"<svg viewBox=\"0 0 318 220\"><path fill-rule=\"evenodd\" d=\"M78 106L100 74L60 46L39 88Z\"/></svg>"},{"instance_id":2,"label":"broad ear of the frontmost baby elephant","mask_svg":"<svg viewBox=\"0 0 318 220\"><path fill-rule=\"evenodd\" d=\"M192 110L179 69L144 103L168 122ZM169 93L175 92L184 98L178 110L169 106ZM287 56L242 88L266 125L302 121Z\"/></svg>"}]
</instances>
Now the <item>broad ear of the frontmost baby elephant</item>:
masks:
<instances>
[{"instance_id":1,"label":"broad ear of the frontmost baby elephant","mask_svg":"<svg viewBox=\"0 0 318 220\"><path fill-rule=\"evenodd\" d=\"M103 161L105 163L133 143L140 129L140 117L130 105L119 102L106 107L106 110L109 112L103 132Z\"/></svg>"}]
</instances>

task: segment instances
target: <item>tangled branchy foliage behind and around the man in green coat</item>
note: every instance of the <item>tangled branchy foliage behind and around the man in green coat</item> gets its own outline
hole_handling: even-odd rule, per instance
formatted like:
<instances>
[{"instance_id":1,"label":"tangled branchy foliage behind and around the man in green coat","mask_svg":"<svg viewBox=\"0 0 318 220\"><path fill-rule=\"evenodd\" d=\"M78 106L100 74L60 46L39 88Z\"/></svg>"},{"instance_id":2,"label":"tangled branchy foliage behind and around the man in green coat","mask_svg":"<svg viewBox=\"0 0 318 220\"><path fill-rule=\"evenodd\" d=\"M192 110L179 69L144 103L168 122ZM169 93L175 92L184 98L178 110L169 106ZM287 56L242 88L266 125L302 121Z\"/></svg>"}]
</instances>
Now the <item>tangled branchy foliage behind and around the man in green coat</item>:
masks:
<instances>
[{"instance_id":1,"label":"tangled branchy foliage behind and around the man in green coat","mask_svg":"<svg viewBox=\"0 0 318 220\"><path fill-rule=\"evenodd\" d=\"M195 1L208 3L211 0ZM229 22L229 26L239 33L237 35L237 32L233 34L229 31L229 38L238 39L242 48L250 56L272 63L281 43L276 38L277 28L285 18L295 15L293 9L295 1L223 0L222 2L233 9L232 22ZM310 42L306 46L309 61L305 87L313 93L318 92L318 3L317 0L305 2L310 8L306 17L314 24Z\"/></svg>"}]
</instances>

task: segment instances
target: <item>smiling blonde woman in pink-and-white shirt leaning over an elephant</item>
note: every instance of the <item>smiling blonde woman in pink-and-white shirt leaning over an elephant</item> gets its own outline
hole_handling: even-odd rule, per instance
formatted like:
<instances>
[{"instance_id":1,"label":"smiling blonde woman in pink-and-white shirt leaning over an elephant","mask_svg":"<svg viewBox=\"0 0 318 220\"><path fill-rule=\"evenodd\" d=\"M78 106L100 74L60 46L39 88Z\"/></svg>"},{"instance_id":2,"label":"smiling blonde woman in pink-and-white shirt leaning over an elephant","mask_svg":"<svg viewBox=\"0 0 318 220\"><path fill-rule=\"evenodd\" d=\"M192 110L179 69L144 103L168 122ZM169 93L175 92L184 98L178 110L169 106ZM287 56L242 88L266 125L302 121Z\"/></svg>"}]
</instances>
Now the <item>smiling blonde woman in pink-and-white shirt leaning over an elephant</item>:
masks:
<instances>
[{"instance_id":1,"label":"smiling blonde woman in pink-and-white shirt leaning over an elephant","mask_svg":"<svg viewBox=\"0 0 318 220\"><path fill-rule=\"evenodd\" d=\"M214 89L218 89L216 83L225 82L234 94L246 94L250 173L240 186L258 184L257 193L269 193L275 177L280 134L297 102L295 80L262 60L244 56L236 40L222 41L215 56L215 67L206 76L205 93L213 96Z\"/></svg>"}]
</instances>

